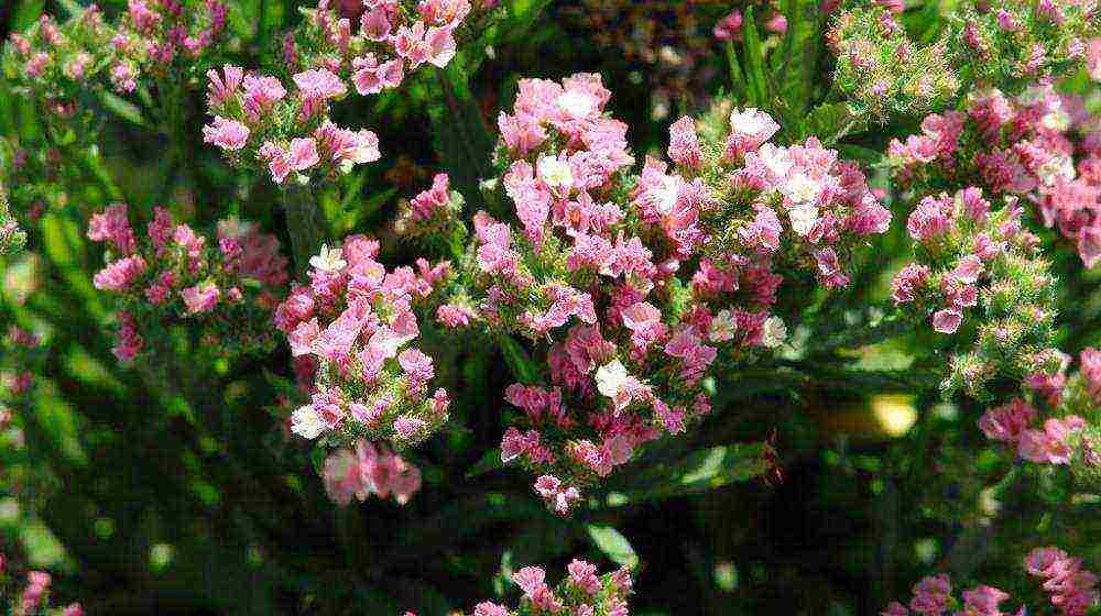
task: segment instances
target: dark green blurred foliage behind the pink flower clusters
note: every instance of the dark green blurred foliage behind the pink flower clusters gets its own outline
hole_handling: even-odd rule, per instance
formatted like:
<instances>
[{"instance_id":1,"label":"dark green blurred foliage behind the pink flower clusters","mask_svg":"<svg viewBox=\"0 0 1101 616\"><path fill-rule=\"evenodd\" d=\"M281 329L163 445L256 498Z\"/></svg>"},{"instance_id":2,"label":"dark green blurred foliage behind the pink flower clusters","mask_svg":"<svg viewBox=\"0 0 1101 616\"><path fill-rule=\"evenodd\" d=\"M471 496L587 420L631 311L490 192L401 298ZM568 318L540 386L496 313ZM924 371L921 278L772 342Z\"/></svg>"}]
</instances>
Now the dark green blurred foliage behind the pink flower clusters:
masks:
<instances>
[{"instance_id":1,"label":"dark green blurred foliage behind the pink flower clusters","mask_svg":"<svg viewBox=\"0 0 1101 616\"><path fill-rule=\"evenodd\" d=\"M601 73L640 158L664 148L682 113L732 94L773 112L788 139L832 130L884 188L875 152L919 120L838 130L843 113L818 91L830 58L817 0L780 2L789 28L766 37L764 59L710 35L729 2L506 3L506 20L446 72L338 106L336 119L377 131L384 153L320 195L338 237L373 232L389 262L407 261L415 251L386 224L437 170L480 207L495 110L524 76ZM0 34L74 4L7 0ZM227 59L244 66L299 19L291 0L230 4ZM912 8L906 26L935 29L950 4ZM113 13L124 2L101 6ZM89 614L442 615L513 592L514 569L584 556L636 568L637 614L841 616L877 612L934 569L1026 598L1014 581L1037 536L1101 562L1101 496L988 447L975 429L982 408L939 397L945 358L919 353L924 334L869 308L907 256L902 224L866 251L859 290L814 304L833 330L797 330L773 363L730 374L704 426L650 448L570 519L548 514L521 471L493 463L511 378L506 359L473 340L434 353L456 400L445 432L412 452L421 493L403 507L333 505L272 410L288 377L285 350L206 361L181 334L159 365L132 370L109 352L111 312L90 284L90 212L122 200L148 216L163 204L185 221L236 213L285 233L271 183L200 143L201 96L200 86L178 94L175 118L103 105L98 148L73 135L55 158L30 162L33 183L7 179L17 207L36 206L41 218L28 229L30 250L3 257L0 311L42 334L46 351L33 405L0 433L0 549L55 571L56 593ZM0 130L8 144L43 139L31 105L4 81ZM895 220L905 217L887 199ZM1077 354L1101 344L1101 270L1083 273L1069 252L1055 258L1059 342ZM826 343L808 353L811 337Z\"/></svg>"}]
</instances>

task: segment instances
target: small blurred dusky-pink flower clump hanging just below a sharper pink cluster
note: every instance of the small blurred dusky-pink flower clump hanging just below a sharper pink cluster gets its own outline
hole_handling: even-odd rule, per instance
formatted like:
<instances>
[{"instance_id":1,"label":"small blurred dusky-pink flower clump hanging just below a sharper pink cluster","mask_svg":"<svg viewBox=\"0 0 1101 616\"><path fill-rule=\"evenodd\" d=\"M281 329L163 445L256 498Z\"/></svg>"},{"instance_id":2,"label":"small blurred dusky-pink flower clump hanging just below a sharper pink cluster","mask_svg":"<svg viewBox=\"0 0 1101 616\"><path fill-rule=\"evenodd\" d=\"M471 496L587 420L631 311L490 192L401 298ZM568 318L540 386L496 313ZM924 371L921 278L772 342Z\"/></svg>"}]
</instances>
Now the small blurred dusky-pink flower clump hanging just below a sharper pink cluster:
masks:
<instances>
[{"instance_id":1,"label":"small blurred dusky-pink flower clump hanging just below a sharper pink cluster","mask_svg":"<svg viewBox=\"0 0 1101 616\"><path fill-rule=\"evenodd\" d=\"M368 496L393 497L404 505L421 490L421 470L390 451L384 444L369 443L363 439L355 449L335 450L325 459L321 469L325 492L333 502L344 506L352 496L366 501Z\"/></svg>"}]
</instances>

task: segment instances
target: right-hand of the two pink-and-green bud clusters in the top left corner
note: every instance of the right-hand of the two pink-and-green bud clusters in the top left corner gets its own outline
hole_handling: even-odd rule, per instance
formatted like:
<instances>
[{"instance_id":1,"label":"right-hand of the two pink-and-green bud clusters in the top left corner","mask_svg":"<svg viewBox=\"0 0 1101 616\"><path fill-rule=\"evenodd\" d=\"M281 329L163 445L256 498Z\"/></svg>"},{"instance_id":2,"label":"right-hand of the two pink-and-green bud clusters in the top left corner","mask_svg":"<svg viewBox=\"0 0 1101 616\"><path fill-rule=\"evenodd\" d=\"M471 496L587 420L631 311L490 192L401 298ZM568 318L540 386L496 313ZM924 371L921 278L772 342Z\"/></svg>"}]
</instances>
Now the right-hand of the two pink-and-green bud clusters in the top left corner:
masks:
<instances>
[{"instance_id":1,"label":"right-hand of the two pink-and-green bud clusters in the top left corner","mask_svg":"<svg viewBox=\"0 0 1101 616\"><path fill-rule=\"evenodd\" d=\"M111 85L120 94L149 74L192 78L210 66L226 33L227 6L218 0L129 0L111 38Z\"/></svg>"}]
</instances>

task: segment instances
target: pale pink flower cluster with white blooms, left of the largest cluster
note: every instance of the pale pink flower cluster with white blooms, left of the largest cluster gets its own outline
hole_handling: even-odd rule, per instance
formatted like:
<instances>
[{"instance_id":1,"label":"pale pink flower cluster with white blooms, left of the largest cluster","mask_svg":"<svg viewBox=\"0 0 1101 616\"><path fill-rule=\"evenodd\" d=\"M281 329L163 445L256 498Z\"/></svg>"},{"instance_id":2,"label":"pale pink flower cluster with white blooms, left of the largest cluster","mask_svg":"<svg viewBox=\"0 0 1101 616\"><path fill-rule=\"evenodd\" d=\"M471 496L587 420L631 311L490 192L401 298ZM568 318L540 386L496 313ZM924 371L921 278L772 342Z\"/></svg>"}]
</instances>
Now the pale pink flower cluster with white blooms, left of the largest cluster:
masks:
<instances>
[{"instance_id":1,"label":"pale pink flower cluster with white blooms, left of the largest cluster","mask_svg":"<svg viewBox=\"0 0 1101 616\"><path fill-rule=\"evenodd\" d=\"M275 310L295 358L307 358L310 403L291 430L323 444L363 438L402 450L447 420L447 392L429 392L432 358L411 346L421 333L414 308L449 276L447 262L391 272L375 261L379 243L363 235L321 246L309 261L308 286L295 285ZM299 360L301 361L301 360Z\"/></svg>"}]
</instances>

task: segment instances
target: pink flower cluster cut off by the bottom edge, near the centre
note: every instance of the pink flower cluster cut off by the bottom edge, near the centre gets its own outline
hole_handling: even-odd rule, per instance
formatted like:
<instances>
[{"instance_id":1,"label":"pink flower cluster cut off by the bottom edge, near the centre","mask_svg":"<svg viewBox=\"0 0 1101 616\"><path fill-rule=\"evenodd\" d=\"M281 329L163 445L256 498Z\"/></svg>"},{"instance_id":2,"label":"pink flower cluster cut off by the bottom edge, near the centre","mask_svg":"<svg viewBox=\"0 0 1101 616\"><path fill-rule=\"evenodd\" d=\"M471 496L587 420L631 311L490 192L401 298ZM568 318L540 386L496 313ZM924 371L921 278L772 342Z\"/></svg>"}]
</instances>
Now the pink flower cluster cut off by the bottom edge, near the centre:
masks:
<instances>
[{"instance_id":1,"label":"pink flower cluster cut off by the bottom edge, near the centre","mask_svg":"<svg viewBox=\"0 0 1101 616\"><path fill-rule=\"evenodd\" d=\"M476 605L470 616L629 616L626 598L633 582L626 569L597 575L596 565L574 559L566 573L552 587L543 568L525 566L512 574L512 582L523 593L515 608L486 601Z\"/></svg>"}]
</instances>

